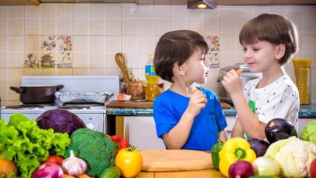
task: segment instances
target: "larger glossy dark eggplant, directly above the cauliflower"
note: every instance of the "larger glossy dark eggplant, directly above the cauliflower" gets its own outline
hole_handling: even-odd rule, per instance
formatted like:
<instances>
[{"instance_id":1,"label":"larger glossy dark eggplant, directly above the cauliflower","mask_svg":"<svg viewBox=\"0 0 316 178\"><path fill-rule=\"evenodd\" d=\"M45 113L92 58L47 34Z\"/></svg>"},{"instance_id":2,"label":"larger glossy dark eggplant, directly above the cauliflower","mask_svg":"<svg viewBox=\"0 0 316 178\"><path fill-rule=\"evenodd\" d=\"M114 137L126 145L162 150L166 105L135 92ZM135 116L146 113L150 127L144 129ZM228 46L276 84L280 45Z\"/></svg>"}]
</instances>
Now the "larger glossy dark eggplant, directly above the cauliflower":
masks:
<instances>
[{"instance_id":1,"label":"larger glossy dark eggplant, directly above the cauliflower","mask_svg":"<svg viewBox=\"0 0 316 178\"><path fill-rule=\"evenodd\" d=\"M293 124L286 119L280 118L269 121L265 128L265 133L270 144L290 136L297 137L297 131Z\"/></svg>"}]
</instances>

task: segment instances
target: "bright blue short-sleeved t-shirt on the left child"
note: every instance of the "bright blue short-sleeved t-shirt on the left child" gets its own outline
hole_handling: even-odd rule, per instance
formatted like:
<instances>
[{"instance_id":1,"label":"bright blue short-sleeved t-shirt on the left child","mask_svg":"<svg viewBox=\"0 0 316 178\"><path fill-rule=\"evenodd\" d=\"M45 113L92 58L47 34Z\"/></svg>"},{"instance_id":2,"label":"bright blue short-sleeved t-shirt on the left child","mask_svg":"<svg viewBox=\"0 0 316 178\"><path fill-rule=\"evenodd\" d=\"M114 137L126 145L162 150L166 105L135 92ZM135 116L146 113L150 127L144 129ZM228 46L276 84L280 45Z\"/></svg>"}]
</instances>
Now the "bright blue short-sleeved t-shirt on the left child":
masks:
<instances>
[{"instance_id":1,"label":"bright blue short-sleeved t-shirt on the left child","mask_svg":"<svg viewBox=\"0 0 316 178\"><path fill-rule=\"evenodd\" d=\"M218 139L218 132L227 127L222 107L216 94L204 88L198 88L206 95L207 104L194 118L188 140L181 149L211 150ZM189 105L190 97L175 93L169 89L154 100L154 119L159 138L175 127ZM166 147L166 149L168 149Z\"/></svg>"}]
</instances>

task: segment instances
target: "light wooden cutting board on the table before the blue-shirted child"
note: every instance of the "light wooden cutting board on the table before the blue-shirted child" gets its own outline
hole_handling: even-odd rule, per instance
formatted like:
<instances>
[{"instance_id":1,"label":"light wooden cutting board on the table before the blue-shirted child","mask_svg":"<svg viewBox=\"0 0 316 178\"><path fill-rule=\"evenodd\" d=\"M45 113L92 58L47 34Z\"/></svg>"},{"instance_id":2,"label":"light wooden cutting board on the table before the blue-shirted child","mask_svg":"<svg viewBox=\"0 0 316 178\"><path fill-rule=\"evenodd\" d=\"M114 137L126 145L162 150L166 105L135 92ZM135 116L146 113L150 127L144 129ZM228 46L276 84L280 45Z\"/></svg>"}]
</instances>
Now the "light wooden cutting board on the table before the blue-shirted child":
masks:
<instances>
[{"instance_id":1,"label":"light wooden cutting board on the table before the blue-shirted child","mask_svg":"<svg viewBox=\"0 0 316 178\"><path fill-rule=\"evenodd\" d=\"M197 150L143 150L142 171L169 172L214 168L210 153Z\"/></svg>"}]
</instances>

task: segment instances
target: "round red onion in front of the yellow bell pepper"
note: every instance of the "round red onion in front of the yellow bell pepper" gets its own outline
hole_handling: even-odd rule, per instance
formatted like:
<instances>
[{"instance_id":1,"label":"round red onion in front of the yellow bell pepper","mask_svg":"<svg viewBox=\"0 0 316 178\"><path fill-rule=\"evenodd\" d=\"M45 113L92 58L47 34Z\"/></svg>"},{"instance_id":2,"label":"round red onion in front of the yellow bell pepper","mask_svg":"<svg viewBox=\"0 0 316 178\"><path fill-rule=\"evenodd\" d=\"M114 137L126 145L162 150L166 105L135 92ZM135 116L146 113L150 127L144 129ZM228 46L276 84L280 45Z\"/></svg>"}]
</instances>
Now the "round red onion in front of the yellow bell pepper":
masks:
<instances>
[{"instance_id":1,"label":"round red onion in front of the yellow bell pepper","mask_svg":"<svg viewBox=\"0 0 316 178\"><path fill-rule=\"evenodd\" d=\"M233 163L228 169L229 178L249 178L255 175L255 170L251 163L239 160Z\"/></svg>"}]
</instances>

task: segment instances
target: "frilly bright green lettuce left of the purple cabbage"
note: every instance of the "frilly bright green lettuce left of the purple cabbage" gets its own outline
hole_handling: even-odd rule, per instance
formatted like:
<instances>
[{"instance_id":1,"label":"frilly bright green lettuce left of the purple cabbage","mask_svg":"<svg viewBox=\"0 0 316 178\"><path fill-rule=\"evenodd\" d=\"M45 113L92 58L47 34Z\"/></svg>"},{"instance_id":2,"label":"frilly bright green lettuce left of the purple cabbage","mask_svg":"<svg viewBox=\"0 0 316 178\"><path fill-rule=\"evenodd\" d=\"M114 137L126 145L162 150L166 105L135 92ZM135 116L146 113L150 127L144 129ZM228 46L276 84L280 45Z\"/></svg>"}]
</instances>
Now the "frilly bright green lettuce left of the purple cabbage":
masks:
<instances>
[{"instance_id":1,"label":"frilly bright green lettuce left of the purple cabbage","mask_svg":"<svg viewBox=\"0 0 316 178\"><path fill-rule=\"evenodd\" d=\"M40 129L36 120L22 114L12 114L7 124L0 120L1 158L16 163L20 171L17 178L31 178L42 161L49 155L63 156L70 144L67 133ZM15 176L11 174L10 178Z\"/></svg>"}]
</instances>

